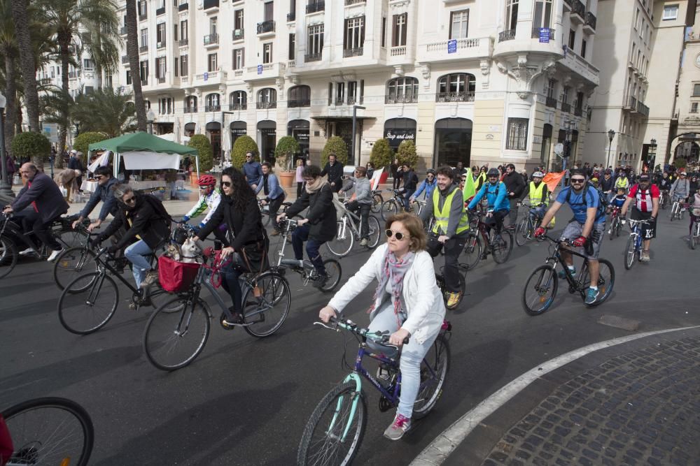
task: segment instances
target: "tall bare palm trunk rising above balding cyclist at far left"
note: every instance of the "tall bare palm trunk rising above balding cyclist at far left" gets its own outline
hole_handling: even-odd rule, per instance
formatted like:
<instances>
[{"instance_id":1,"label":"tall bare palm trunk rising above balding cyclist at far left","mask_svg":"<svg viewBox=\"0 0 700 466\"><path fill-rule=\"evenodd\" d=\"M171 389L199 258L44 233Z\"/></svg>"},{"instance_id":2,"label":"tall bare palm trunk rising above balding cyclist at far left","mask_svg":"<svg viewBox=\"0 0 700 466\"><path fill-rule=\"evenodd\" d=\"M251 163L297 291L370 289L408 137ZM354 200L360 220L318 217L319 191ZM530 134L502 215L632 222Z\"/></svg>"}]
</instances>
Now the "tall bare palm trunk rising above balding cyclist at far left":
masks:
<instances>
[{"instance_id":1,"label":"tall bare palm trunk rising above balding cyclist at far left","mask_svg":"<svg viewBox=\"0 0 700 466\"><path fill-rule=\"evenodd\" d=\"M12 0L12 17L15 20L15 36L20 48L22 79L25 82L25 104L29 117L29 131L39 132L39 95L36 90L36 63L27 21L27 1ZM134 32L134 34L136 34Z\"/></svg>"}]
</instances>

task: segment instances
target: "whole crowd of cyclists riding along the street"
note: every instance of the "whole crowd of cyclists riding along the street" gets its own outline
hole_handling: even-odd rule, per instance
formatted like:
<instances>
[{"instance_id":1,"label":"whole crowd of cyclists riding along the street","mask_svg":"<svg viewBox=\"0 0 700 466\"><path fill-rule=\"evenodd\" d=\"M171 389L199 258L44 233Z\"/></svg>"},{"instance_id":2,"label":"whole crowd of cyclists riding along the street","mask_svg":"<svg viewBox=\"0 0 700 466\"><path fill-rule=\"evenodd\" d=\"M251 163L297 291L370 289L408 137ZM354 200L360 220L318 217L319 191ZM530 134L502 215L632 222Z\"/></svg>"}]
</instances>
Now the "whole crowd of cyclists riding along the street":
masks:
<instances>
[{"instance_id":1,"label":"whole crowd of cyclists riding along the street","mask_svg":"<svg viewBox=\"0 0 700 466\"><path fill-rule=\"evenodd\" d=\"M319 312L319 318L328 322L342 313L361 291L377 282L370 312L370 329L388 330L389 342L402 347L401 371L404 377L400 404L385 436L400 439L409 428L412 405L420 380L419 365L440 331L446 308L461 300L463 289L459 279L459 256L473 228L472 217L481 210L486 228L493 230L494 241L501 242L505 228L514 230L518 208L528 202L529 213L538 219L535 238L541 238L552 227L555 215L566 204L573 212L563 228L561 238L569 240L569 247L580 248L588 259L590 286L585 303L598 298L598 256L605 234L606 216L617 209L622 217L627 212L635 220L649 220L643 227L643 254L641 261L650 261L651 241L656 237L656 219L660 199L668 195L682 201L690 210L691 228L700 215L700 186L696 176L683 170L659 173L640 173L629 169L603 169L588 164L568 170L566 187L550 200L554 193L545 183L546 173L536 168L531 175L518 173L512 163L504 167L474 166L469 170L462 163L456 167L440 166L427 170L421 181L414 167L395 161L394 189L402 194L406 212L397 213L386 221L386 243L372 252L353 277L346 280L328 305ZM171 237L173 222L189 223L195 231L195 241L205 240L214 233L222 259L231 259L222 271L222 284L230 294L231 317L224 325L242 322L241 286L239 277L245 273L262 272L269 268L269 236L281 235L281 225L287 219L303 215L291 235L295 259L307 259L314 265L318 279L314 286L323 288L326 271L321 247L337 235L338 195L346 194L346 208L361 219L360 245L367 245L367 218L372 205L372 186L369 166L357 166L353 175L346 177L342 163L330 155L321 168L313 164L300 165L297 174L302 184L297 198L282 212L286 191L274 175L272 166L255 161L252 153L246 156L241 170L225 168L219 180L213 175L199 179L199 200L181 219L174 220L158 198L134 191L129 184L116 180L111 168L97 168L94 175L97 189L73 223L76 228L102 201L97 219L87 227L99 231L91 238L92 246L99 248L111 240L106 251L123 254L131 264L137 287L147 288L158 279L154 262L149 259ZM55 182L32 163L25 163L20 173L27 180L15 201L3 209L12 214L25 231L32 231L38 240L52 250L48 261L62 252L61 245L48 231L48 226L68 210L68 205ZM469 180L471 177L471 180ZM217 187L218 184L218 187ZM472 191L465 185L473 187ZM349 194L352 193L352 194ZM260 196L260 198L258 197ZM425 207L419 216L411 213L412 205L420 198ZM272 229L263 226L260 205L269 207ZM113 219L101 228L108 214ZM202 217L204 214L204 217ZM31 244L20 254L37 254L38 244ZM437 288L432 259L444 255L445 293ZM571 275L576 270L573 257L566 251L563 259ZM563 272L560 272L562 275ZM409 343L403 344L406 338Z\"/></svg>"}]
</instances>

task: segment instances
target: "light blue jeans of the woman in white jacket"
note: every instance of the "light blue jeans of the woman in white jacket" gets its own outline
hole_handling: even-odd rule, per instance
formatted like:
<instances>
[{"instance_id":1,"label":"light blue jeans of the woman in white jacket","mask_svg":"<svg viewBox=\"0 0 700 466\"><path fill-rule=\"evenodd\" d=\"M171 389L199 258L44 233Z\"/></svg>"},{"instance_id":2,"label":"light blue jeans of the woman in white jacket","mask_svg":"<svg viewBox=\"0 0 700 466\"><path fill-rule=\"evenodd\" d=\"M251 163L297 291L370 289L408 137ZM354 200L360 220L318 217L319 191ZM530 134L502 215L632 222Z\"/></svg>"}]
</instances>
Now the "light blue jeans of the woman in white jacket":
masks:
<instances>
[{"instance_id":1,"label":"light blue jeans of the woman in white jacket","mask_svg":"<svg viewBox=\"0 0 700 466\"><path fill-rule=\"evenodd\" d=\"M394 333L399 328L398 318L393 312L393 304L391 300L388 300L370 322L370 332L374 333L376 331L383 332L384 330L388 330L390 333ZM401 394L396 412L402 416L411 418L413 415L413 405L416 402L416 396L418 396L418 391L421 386L421 361L423 361L423 358L428 353L430 346L435 342L435 338L439 332L440 329L436 329L435 335L430 336L422 344L411 337L409 338L409 343L405 344L401 350L401 358L399 360L399 367L401 369ZM384 355L389 358L396 356L396 351L393 348L373 344L370 340L367 340L367 343L374 351L384 353Z\"/></svg>"}]
</instances>

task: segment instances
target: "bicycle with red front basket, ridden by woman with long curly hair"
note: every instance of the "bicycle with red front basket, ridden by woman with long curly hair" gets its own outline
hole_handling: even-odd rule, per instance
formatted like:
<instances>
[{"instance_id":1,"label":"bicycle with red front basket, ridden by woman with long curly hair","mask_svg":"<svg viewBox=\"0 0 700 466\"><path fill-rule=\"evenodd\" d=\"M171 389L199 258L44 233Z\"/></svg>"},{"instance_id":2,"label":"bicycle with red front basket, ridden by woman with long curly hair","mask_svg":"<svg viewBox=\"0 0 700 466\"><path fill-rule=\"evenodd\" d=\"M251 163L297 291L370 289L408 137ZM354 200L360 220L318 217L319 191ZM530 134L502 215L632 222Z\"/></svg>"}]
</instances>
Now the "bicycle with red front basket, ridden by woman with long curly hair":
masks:
<instances>
[{"instance_id":1,"label":"bicycle with red front basket, ridden by woman with long curly hair","mask_svg":"<svg viewBox=\"0 0 700 466\"><path fill-rule=\"evenodd\" d=\"M216 291L216 277L227 261L215 260L207 264L207 253L202 255L202 265L187 291L178 293L161 305L148 319L144 329L144 352L148 361L160 370L181 369L195 361L202 353L209 338L212 314L209 304L202 299L202 289L214 298L221 310L219 323L225 330L243 327L248 335L263 338L274 334L287 318L292 302L286 278L274 268L266 272L248 272L239 277L241 284L243 321L233 321L227 304ZM178 312L172 312L172 309Z\"/></svg>"}]
</instances>

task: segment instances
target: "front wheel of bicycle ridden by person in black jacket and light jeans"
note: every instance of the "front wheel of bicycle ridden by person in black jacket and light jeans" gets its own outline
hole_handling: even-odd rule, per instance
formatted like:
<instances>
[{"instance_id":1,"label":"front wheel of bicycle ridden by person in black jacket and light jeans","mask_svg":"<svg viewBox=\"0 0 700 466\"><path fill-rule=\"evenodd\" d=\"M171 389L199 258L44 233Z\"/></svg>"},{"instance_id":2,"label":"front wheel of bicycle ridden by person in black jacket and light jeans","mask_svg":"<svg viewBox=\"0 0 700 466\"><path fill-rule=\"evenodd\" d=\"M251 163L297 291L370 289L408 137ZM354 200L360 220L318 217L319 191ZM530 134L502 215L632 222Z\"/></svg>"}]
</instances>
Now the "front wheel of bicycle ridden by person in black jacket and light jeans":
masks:
<instances>
[{"instance_id":1,"label":"front wheel of bicycle ridden by person in black jacket and light jeans","mask_svg":"<svg viewBox=\"0 0 700 466\"><path fill-rule=\"evenodd\" d=\"M103 272L76 277L58 299L58 318L71 333L87 335L104 327L117 310L119 290Z\"/></svg>"}]
</instances>

